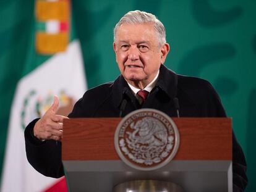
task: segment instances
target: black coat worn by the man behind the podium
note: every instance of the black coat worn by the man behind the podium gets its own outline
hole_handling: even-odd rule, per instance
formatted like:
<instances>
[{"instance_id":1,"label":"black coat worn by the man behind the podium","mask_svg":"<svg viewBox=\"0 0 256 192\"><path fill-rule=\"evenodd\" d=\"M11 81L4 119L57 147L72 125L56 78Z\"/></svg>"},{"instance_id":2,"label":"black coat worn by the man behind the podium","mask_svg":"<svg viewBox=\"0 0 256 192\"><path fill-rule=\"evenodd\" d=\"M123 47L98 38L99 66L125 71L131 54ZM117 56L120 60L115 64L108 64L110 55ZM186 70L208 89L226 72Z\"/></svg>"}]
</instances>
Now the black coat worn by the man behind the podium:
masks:
<instances>
[{"instance_id":1,"label":"black coat worn by the man behind the podium","mask_svg":"<svg viewBox=\"0 0 256 192\"><path fill-rule=\"evenodd\" d=\"M142 107L158 109L170 117L177 117L174 98L179 100L181 117L226 117L220 98L208 81L177 75L164 65L161 65L156 86L143 106L140 106L126 80L120 75L114 82L88 90L77 101L69 117L118 117L124 99L127 104L122 110L122 116ZM33 120L25 129L27 159L43 175L61 177L64 175L61 143L53 140L41 142L35 138L33 127L36 120ZM243 190L247 185L245 172L245 157L233 134L234 191L235 189Z\"/></svg>"}]
</instances>

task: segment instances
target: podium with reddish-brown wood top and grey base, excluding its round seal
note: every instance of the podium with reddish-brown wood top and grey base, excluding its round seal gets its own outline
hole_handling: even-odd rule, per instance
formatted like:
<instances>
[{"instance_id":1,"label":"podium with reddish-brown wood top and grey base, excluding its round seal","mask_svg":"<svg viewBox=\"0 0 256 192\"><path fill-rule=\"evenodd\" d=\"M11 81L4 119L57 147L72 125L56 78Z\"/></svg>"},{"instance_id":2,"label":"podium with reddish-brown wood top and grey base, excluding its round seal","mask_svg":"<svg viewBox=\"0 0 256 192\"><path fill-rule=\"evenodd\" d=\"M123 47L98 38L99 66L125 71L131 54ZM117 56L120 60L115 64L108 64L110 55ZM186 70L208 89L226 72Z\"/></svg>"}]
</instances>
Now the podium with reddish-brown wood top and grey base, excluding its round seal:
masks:
<instances>
[{"instance_id":1,"label":"podium with reddish-brown wood top and grey base, excluding its round seal","mask_svg":"<svg viewBox=\"0 0 256 192\"><path fill-rule=\"evenodd\" d=\"M121 161L114 132L121 118L64 120L62 162L70 191L111 192L130 180L162 180L184 191L232 191L232 128L229 118L172 118L180 134L168 165L140 171Z\"/></svg>"}]
</instances>

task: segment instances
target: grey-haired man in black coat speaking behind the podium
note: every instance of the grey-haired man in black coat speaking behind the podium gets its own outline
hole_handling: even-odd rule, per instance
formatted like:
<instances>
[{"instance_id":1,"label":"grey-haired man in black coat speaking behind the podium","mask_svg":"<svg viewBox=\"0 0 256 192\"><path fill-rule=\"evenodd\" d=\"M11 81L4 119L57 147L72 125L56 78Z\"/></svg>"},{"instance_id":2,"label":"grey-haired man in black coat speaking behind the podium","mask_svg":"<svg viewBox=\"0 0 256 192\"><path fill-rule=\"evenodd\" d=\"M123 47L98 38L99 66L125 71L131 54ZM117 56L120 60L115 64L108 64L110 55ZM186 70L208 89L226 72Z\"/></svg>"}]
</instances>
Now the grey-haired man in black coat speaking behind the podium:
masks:
<instances>
[{"instance_id":1,"label":"grey-haired man in black coat speaking behind the podium","mask_svg":"<svg viewBox=\"0 0 256 192\"><path fill-rule=\"evenodd\" d=\"M208 81L177 75L164 67L169 52L165 36L155 15L139 10L124 15L114 28L113 43L121 75L88 90L69 117L119 117L140 108L158 109L170 117L226 117ZM67 117L56 115L57 109L58 98L54 98L46 114L25 130L28 161L49 177L64 175L60 141L62 121ZM247 185L245 171L244 154L233 135L234 190L242 191Z\"/></svg>"}]
</instances>

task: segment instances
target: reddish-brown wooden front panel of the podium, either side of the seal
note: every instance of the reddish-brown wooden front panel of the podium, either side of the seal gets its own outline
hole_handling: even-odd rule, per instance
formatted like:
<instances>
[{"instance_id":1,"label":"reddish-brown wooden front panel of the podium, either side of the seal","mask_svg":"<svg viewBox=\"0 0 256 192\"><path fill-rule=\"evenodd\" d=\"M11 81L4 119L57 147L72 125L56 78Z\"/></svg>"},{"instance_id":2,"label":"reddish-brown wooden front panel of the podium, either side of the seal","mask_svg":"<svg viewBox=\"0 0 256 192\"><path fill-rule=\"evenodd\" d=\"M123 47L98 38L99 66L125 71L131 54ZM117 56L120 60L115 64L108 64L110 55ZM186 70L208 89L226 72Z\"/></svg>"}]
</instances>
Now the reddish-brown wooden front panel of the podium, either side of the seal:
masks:
<instances>
[{"instance_id":1,"label":"reddish-brown wooden front panel of the podium, either side of the seal","mask_svg":"<svg viewBox=\"0 0 256 192\"><path fill-rule=\"evenodd\" d=\"M64 120L62 160L119 160L114 148L114 132L120 120ZM231 119L173 118L173 121L181 138L174 160L232 159Z\"/></svg>"}]
</instances>

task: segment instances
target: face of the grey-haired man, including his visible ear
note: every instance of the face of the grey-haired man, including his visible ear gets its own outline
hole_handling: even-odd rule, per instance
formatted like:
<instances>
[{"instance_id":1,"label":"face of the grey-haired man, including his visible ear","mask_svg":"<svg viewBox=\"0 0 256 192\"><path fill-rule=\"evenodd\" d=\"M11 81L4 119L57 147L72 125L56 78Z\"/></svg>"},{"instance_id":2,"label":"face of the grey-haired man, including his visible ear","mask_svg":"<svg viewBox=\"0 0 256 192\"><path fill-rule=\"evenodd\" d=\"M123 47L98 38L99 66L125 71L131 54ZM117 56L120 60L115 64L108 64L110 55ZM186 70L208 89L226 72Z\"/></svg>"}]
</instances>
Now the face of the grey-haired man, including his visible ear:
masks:
<instances>
[{"instance_id":1,"label":"face of the grey-haired man, including his visible ear","mask_svg":"<svg viewBox=\"0 0 256 192\"><path fill-rule=\"evenodd\" d=\"M167 43L159 46L151 23L121 25L113 46L122 75L131 85L140 89L155 78L169 51Z\"/></svg>"}]
</instances>

